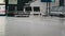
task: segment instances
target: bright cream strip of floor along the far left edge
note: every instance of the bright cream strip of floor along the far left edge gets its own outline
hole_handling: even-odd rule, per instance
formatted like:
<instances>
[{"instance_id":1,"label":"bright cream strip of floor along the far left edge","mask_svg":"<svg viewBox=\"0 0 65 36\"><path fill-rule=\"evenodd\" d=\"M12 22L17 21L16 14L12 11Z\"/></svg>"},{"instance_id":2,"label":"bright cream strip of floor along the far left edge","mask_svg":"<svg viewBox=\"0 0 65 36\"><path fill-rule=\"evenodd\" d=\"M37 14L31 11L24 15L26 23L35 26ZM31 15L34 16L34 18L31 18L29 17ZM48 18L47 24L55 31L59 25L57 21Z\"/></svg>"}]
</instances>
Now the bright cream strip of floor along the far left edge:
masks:
<instances>
[{"instance_id":1,"label":"bright cream strip of floor along the far left edge","mask_svg":"<svg viewBox=\"0 0 65 36\"><path fill-rule=\"evenodd\" d=\"M5 36L5 17L0 16L0 36Z\"/></svg>"}]
</instances>

